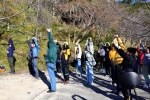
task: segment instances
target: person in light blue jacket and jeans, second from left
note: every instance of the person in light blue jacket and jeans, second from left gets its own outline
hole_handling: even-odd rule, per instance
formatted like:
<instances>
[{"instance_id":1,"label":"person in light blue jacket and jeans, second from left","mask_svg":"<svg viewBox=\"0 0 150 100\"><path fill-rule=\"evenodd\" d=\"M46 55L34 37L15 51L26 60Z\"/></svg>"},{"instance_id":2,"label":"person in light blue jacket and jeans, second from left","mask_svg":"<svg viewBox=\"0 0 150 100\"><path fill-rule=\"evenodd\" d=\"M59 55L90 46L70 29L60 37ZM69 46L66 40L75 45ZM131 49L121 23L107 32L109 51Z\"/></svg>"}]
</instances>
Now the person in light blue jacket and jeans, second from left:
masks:
<instances>
[{"instance_id":1,"label":"person in light blue jacket and jeans, second from left","mask_svg":"<svg viewBox=\"0 0 150 100\"><path fill-rule=\"evenodd\" d=\"M29 41L29 38L28 38ZM32 67L34 70L34 77L39 79L39 72L38 72L38 53L40 47L38 45L37 39L35 37L32 38L32 42L28 42L29 46L31 46L31 59L32 59Z\"/></svg>"}]
</instances>

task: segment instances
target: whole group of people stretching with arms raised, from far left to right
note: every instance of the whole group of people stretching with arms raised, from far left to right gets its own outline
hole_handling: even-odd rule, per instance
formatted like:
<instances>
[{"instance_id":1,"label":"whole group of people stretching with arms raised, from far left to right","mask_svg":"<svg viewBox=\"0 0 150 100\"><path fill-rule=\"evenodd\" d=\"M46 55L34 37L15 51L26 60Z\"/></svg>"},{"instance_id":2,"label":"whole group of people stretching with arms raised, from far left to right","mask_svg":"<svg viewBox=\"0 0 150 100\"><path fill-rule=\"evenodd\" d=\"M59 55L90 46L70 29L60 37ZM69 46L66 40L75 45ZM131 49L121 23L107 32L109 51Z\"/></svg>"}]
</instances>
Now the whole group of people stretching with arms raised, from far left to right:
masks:
<instances>
[{"instance_id":1,"label":"whole group of people stretching with arms raised, from far left to right","mask_svg":"<svg viewBox=\"0 0 150 100\"><path fill-rule=\"evenodd\" d=\"M69 57L71 55L71 51L67 42L64 42L63 46L58 43L57 40L53 39L52 30L47 29L48 33L48 42L47 42L47 52L44 54L45 63L47 65L48 74L50 77L50 85L48 92L56 91L56 77L55 77L55 66L58 74L63 73L64 84L69 83ZM10 73L14 74L14 56L13 51L15 47L13 45L12 39L8 41L8 62L10 65ZM32 42L30 42L30 38L28 38L28 46L30 48L29 52L29 69L30 73L36 78L39 79L39 71L38 71L38 53L40 50L40 46L38 45L38 41L35 37L32 38ZM75 67L76 67L76 75L78 75L78 69L80 69L79 77L82 78L82 67L81 67L81 58L83 55L84 63L86 66L86 83L91 85L94 80L93 67L98 63L96 63L94 59L94 46L92 38L88 38L85 43L84 53L82 52L79 41L75 44ZM122 91L125 100L132 99L131 89L120 86L119 84L119 75L120 71L122 72L135 72L144 75L146 83L143 85L144 88L150 88L150 78L149 78L149 66L150 66L150 47L146 49L142 45L140 41L140 46L138 48L125 48L122 40L118 37L118 35L114 36L112 43L109 42L103 44L100 43L100 47L98 49L98 58L100 59L100 69L105 69L106 76L111 76L112 84L116 86L117 94ZM136 56L137 52L137 56Z\"/></svg>"}]
</instances>

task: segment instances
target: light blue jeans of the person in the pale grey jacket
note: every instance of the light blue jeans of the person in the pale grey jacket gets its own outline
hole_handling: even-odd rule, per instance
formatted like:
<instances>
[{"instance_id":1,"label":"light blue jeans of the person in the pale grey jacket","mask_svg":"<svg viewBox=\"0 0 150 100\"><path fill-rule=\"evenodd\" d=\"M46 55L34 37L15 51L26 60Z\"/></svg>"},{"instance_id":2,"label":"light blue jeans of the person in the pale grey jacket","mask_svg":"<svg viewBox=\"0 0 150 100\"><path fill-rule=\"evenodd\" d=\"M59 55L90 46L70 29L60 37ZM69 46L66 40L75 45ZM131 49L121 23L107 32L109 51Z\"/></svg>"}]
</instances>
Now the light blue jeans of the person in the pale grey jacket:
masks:
<instances>
[{"instance_id":1,"label":"light blue jeans of the person in the pale grey jacket","mask_svg":"<svg viewBox=\"0 0 150 100\"><path fill-rule=\"evenodd\" d=\"M93 66L86 61L86 81L88 84L93 83L94 75L93 75Z\"/></svg>"}]
</instances>

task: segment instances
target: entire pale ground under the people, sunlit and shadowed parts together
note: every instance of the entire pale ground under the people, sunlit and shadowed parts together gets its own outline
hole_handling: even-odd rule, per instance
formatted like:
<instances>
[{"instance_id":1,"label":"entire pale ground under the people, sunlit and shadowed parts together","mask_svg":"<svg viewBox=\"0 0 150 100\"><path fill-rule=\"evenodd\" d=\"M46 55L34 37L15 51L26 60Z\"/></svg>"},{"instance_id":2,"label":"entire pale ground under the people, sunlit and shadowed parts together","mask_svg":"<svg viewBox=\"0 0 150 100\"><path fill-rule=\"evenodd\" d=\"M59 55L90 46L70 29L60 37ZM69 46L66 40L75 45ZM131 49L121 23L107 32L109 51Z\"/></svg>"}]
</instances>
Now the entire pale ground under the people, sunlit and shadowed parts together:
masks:
<instances>
[{"instance_id":1,"label":"entire pale ground under the people, sunlit and shadowed parts together","mask_svg":"<svg viewBox=\"0 0 150 100\"><path fill-rule=\"evenodd\" d=\"M29 73L0 76L0 100L122 100L120 92L115 95L112 90L111 79L104 77L99 71L94 71L94 83L87 85L85 74L82 78L70 73L69 84L62 83L62 75L57 75L57 90L47 93L49 76L47 72L40 72L39 80ZM150 89L136 88L138 100L150 100ZM134 91L132 94L135 100Z\"/></svg>"}]
</instances>

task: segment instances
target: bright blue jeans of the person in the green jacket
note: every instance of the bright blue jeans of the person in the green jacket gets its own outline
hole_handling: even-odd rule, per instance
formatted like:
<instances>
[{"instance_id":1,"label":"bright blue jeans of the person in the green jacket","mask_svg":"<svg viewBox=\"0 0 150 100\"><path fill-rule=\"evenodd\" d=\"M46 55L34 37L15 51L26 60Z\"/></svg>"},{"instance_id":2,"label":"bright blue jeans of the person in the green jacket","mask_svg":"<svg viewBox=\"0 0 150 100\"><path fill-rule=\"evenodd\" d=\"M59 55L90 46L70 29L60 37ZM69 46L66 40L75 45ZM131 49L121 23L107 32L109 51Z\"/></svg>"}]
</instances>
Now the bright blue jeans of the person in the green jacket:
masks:
<instances>
[{"instance_id":1,"label":"bright blue jeans of the person in the green jacket","mask_svg":"<svg viewBox=\"0 0 150 100\"><path fill-rule=\"evenodd\" d=\"M47 63L47 70L50 77L50 87L51 90L56 90L56 77L54 73L55 64Z\"/></svg>"}]
</instances>

